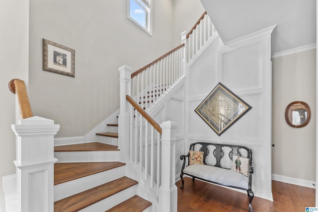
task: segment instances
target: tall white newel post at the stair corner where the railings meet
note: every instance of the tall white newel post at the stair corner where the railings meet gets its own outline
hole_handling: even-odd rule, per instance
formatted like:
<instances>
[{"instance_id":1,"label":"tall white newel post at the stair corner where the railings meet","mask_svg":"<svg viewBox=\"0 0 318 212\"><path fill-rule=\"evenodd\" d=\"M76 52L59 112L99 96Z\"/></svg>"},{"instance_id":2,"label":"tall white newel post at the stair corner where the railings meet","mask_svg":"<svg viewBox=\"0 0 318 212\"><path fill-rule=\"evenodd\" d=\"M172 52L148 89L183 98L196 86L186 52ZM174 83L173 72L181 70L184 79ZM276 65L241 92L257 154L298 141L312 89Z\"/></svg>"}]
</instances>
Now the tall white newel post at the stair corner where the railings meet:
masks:
<instances>
[{"instance_id":1,"label":"tall white newel post at the stair corner where the railings meet","mask_svg":"<svg viewBox=\"0 0 318 212\"><path fill-rule=\"evenodd\" d=\"M131 96L131 72L129 66L118 68L120 72L120 114L118 116L118 148L120 149L120 160L128 161L130 158L130 105L126 100L126 95Z\"/></svg>"}]
</instances>

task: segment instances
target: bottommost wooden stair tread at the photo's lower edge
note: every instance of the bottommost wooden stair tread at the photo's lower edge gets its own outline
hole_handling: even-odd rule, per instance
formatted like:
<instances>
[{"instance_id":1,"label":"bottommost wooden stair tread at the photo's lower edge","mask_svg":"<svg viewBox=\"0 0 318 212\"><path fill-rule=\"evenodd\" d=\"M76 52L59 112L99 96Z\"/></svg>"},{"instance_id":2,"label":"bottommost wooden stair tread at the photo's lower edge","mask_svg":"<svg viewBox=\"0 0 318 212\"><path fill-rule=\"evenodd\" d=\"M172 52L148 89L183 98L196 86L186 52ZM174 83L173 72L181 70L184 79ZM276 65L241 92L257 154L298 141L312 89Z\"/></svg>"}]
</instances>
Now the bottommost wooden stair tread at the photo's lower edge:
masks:
<instances>
[{"instance_id":1,"label":"bottommost wooden stair tread at the photo's lower edge","mask_svg":"<svg viewBox=\"0 0 318 212\"><path fill-rule=\"evenodd\" d=\"M142 212L152 205L151 202L135 195L106 212Z\"/></svg>"}]
</instances>

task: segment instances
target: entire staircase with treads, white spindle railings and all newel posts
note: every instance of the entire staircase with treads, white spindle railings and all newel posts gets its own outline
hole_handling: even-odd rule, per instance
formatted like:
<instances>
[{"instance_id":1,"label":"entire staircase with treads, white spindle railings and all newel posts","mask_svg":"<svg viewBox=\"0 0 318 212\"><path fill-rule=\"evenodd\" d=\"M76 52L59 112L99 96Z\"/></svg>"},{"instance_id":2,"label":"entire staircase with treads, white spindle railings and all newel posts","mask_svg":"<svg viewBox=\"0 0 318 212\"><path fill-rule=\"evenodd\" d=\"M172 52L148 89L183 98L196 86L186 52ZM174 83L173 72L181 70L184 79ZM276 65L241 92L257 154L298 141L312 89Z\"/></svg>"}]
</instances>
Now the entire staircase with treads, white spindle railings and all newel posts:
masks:
<instances>
[{"instance_id":1,"label":"entire staircase with treads, white spindle railings and all newel posts","mask_svg":"<svg viewBox=\"0 0 318 212\"><path fill-rule=\"evenodd\" d=\"M200 23L202 26L199 27ZM33 181L17 186L38 191L31 197L18 197L18 208L51 211L54 207L54 212L176 212L175 164L171 163L175 160L176 125L166 121L159 126L147 112L154 116L156 108L166 102L171 93L176 94L175 88L184 85L186 61L191 60L212 36L214 28L211 24L204 13L187 35L183 33L180 46L133 73L127 66L119 68L121 94L117 118L120 125L111 121L107 124L107 132L94 133L94 137L89 133L89 136L85 135L85 143L55 146L53 155L51 146L59 129L53 125L53 120L31 117L31 121L15 125L15 134L21 138L19 143L28 140L20 136L24 136L23 128L34 128L31 136L39 137L39 141L49 141L47 146L30 143L37 148L36 154L30 155L37 161L36 165L29 158L22 158L22 162L16 164L22 173L17 174L18 182L25 179L23 176L34 176ZM111 116L112 120L115 116ZM45 125L44 133L38 129L38 123ZM47 126L52 129L47 130ZM95 140L95 136L106 140ZM40 157L37 153L41 150L46 152L39 154ZM35 172L33 166L41 170ZM54 180L51 179L53 169ZM43 170L46 174L42 174ZM39 183L37 177L41 179ZM54 187L51 187L52 181ZM47 191L38 189L40 183L43 188L48 188ZM50 196L53 193L54 198ZM53 199L54 206L51 206ZM39 210L32 210L32 207Z\"/></svg>"}]
</instances>

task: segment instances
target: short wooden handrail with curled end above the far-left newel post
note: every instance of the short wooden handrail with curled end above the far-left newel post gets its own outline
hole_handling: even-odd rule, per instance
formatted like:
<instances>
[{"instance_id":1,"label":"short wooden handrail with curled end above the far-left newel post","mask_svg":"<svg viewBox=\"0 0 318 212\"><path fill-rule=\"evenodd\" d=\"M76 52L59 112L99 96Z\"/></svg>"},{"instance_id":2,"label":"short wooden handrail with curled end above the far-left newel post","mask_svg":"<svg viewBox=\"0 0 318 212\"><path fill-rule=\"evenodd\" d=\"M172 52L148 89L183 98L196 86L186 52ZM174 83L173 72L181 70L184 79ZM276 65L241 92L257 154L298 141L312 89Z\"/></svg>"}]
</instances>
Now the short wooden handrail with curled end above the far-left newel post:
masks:
<instances>
[{"instance_id":1,"label":"short wooden handrail with curled end above the far-left newel post","mask_svg":"<svg viewBox=\"0 0 318 212\"><path fill-rule=\"evenodd\" d=\"M21 119L32 117L33 114L24 81L20 79L11 79L9 81L9 89L12 93L16 93L17 95Z\"/></svg>"}]
</instances>

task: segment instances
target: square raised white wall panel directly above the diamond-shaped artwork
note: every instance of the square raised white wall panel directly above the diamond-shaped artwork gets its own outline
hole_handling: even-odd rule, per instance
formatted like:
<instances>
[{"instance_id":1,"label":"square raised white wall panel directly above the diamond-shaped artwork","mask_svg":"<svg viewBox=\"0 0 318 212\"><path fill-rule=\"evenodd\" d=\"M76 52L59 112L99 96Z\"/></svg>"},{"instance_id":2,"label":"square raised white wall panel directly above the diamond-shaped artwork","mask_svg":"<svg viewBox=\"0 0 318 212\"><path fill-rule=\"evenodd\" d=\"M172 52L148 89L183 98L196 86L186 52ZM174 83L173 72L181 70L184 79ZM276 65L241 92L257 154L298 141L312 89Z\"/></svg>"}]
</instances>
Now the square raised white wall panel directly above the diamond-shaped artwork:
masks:
<instances>
[{"instance_id":1,"label":"square raised white wall panel directly above the diamond-shaped artwork","mask_svg":"<svg viewBox=\"0 0 318 212\"><path fill-rule=\"evenodd\" d=\"M222 55L222 75L225 86L232 91L260 88L262 48L257 43Z\"/></svg>"}]
</instances>

